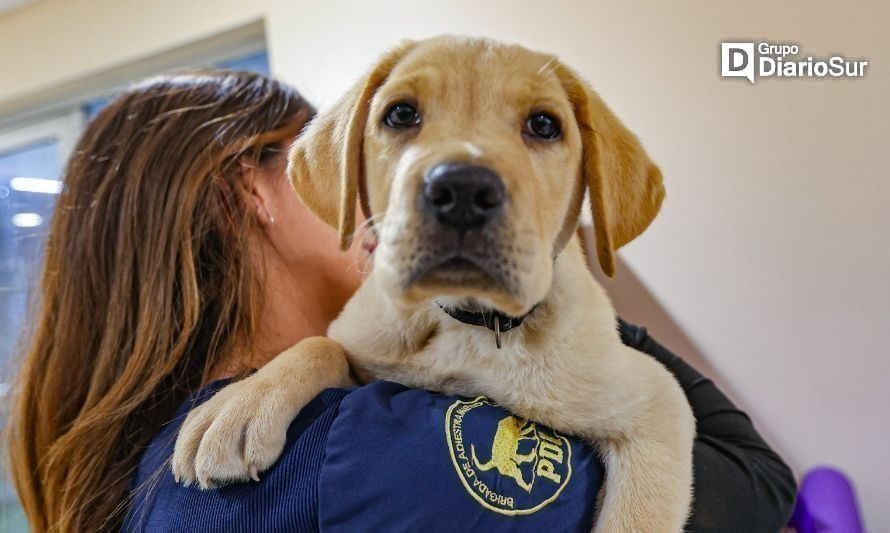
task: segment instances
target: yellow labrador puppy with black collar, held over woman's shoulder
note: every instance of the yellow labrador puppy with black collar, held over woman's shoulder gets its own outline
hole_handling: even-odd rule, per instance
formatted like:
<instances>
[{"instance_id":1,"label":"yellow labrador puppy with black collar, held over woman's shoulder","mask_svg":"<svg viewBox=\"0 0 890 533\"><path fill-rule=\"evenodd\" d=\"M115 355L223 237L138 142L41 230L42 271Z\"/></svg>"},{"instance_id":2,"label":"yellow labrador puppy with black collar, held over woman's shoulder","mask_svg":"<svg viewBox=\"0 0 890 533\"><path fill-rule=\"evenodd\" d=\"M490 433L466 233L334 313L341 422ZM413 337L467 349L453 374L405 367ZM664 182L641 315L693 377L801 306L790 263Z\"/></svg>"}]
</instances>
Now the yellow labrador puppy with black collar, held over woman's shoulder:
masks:
<instances>
[{"instance_id":1,"label":"yellow labrador puppy with black collar, held over woman's shoulder","mask_svg":"<svg viewBox=\"0 0 890 533\"><path fill-rule=\"evenodd\" d=\"M695 420L672 375L621 343L577 237L587 194L611 275L614 250L661 205L661 174L573 71L487 39L405 43L311 123L289 172L343 246L361 204L373 271L329 338L189 415L178 479L256 479L300 409L351 367L361 381L487 396L588 440L607 472L595 531L682 529Z\"/></svg>"}]
</instances>

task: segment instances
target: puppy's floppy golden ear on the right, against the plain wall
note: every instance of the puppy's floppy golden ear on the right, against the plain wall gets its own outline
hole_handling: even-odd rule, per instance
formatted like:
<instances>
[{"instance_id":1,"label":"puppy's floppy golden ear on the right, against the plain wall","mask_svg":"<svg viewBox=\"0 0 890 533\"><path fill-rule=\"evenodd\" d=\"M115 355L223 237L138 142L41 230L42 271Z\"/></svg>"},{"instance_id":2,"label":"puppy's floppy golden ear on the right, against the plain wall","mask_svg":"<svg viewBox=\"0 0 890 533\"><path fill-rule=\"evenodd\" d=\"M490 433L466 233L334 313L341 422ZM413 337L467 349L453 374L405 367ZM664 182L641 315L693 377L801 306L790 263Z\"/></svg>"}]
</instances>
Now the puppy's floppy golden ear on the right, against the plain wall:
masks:
<instances>
[{"instance_id":1,"label":"puppy's floppy golden ear on the right, against the plain wall","mask_svg":"<svg viewBox=\"0 0 890 533\"><path fill-rule=\"evenodd\" d=\"M642 233L661 208L661 171L636 135L577 74L562 64L555 72L581 131L581 173L590 194L597 257L603 272L613 276L614 251Z\"/></svg>"}]
</instances>

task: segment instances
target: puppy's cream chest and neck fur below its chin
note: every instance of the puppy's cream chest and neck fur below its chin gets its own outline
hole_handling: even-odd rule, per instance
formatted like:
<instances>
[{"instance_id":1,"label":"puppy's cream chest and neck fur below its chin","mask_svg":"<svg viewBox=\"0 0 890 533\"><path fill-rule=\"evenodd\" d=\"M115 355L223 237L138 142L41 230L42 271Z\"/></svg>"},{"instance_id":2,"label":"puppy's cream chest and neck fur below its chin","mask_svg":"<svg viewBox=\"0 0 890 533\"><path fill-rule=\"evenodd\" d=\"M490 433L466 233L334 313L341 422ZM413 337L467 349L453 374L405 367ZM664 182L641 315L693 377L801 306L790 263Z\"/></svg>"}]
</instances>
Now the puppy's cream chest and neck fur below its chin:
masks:
<instances>
[{"instance_id":1,"label":"puppy's cream chest and neck fur below its chin","mask_svg":"<svg viewBox=\"0 0 890 533\"><path fill-rule=\"evenodd\" d=\"M459 322L434 302L399 308L377 288L373 274L329 336L344 347L363 381L483 395L551 424L580 400L569 391L608 387L598 366L620 345L611 303L576 242L557 259L547 298L519 328L502 333L501 349L493 331Z\"/></svg>"}]
</instances>

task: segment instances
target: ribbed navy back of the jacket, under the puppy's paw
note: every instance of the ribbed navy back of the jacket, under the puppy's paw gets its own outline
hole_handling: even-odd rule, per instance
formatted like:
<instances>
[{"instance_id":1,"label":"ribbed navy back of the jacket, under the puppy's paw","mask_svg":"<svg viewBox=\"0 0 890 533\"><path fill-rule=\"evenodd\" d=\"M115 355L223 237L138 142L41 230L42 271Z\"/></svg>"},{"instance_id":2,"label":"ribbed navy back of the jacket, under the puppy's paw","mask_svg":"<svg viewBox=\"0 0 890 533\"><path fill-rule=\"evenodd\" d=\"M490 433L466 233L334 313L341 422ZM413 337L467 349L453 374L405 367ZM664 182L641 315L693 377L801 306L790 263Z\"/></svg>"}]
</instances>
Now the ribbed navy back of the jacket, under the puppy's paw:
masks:
<instances>
[{"instance_id":1,"label":"ribbed navy back of the jacket, under the puppy's paw","mask_svg":"<svg viewBox=\"0 0 890 533\"><path fill-rule=\"evenodd\" d=\"M219 382L199 391L155 436L132 483L124 531L315 531L318 478L340 402L351 391L324 391L300 412L287 432L281 458L259 483L201 490L176 483L170 457L188 411L207 401Z\"/></svg>"}]
</instances>

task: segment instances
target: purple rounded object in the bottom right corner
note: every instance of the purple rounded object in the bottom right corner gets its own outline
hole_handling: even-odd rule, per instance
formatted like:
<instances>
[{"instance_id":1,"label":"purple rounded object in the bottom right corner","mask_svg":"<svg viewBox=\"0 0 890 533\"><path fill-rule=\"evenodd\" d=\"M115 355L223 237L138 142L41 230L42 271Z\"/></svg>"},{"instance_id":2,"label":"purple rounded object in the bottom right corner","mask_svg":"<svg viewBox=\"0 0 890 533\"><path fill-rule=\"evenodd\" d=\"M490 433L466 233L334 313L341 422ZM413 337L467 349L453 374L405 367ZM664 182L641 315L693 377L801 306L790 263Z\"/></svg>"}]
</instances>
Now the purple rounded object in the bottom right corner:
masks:
<instances>
[{"instance_id":1,"label":"purple rounded object in the bottom right corner","mask_svg":"<svg viewBox=\"0 0 890 533\"><path fill-rule=\"evenodd\" d=\"M810 470L800 483L789 526L798 533L863 533L853 485L839 470Z\"/></svg>"}]
</instances>

